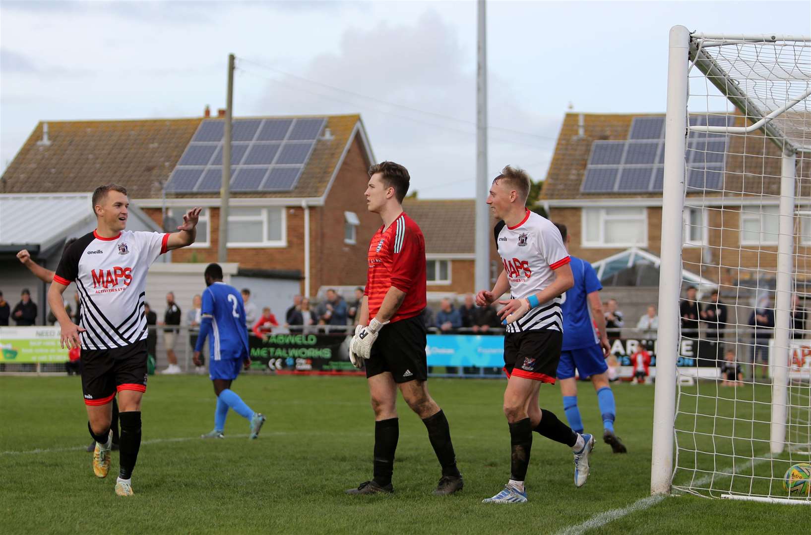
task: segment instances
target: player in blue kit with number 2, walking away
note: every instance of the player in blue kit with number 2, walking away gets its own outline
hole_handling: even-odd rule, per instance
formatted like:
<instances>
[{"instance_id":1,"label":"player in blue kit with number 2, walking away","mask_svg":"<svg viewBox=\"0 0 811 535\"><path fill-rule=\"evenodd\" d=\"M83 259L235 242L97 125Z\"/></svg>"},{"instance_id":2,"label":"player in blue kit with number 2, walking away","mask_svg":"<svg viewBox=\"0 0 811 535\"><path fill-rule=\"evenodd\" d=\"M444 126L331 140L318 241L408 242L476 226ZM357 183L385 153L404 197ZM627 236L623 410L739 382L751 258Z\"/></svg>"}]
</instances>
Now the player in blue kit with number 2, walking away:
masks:
<instances>
[{"instance_id":1,"label":"player in blue kit with number 2, walking away","mask_svg":"<svg viewBox=\"0 0 811 535\"><path fill-rule=\"evenodd\" d=\"M203 308L200 321L200 336L195 345L195 365L201 366L200 350L205 339L211 358L208 360L208 376L217 395L217 410L214 412L214 429L202 435L203 439L223 439L225 417L229 409L251 422L251 439L259 436L264 416L255 413L242 398L231 390L231 381L237 378L240 368L251 366L248 351L248 333L245 328L245 305L236 288L222 282L222 268L209 264L205 269Z\"/></svg>"}]
</instances>

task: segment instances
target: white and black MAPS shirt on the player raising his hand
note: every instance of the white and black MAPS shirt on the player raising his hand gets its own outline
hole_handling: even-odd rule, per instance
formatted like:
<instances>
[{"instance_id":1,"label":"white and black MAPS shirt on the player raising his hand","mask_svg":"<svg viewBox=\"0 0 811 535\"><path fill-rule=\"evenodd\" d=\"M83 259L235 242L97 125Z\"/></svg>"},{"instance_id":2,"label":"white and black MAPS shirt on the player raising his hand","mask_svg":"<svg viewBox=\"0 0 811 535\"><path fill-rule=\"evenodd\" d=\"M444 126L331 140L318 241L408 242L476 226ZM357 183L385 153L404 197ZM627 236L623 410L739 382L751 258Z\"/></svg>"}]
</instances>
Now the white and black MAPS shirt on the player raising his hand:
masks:
<instances>
[{"instance_id":1,"label":"white and black MAPS shirt on the player raising his hand","mask_svg":"<svg viewBox=\"0 0 811 535\"><path fill-rule=\"evenodd\" d=\"M147 338L144 295L147 270L166 252L169 235L122 231L103 238L92 231L76 240L54 274L54 282L76 283L81 299L82 349L125 347Z\"/></svg>"}]
</instances>

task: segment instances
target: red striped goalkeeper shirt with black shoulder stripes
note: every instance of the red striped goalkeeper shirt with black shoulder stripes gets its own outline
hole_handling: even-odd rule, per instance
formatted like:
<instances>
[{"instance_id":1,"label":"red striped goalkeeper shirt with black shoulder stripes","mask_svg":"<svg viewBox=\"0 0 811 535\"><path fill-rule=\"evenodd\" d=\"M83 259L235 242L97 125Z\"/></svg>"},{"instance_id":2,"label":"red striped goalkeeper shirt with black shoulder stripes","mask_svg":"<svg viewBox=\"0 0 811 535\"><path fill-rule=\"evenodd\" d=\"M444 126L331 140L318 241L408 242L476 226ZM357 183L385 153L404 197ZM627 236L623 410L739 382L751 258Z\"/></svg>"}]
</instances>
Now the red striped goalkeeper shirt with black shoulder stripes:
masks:
<instances>
[{"instance_id":1,"label":"red striped goalkeeper shirt with black shoulder stripes","mask_svg":"<svg viewBox=\"0 0 811 535\"><path fill-rule=\"evenodd\" d=\"M405 212L389 227L380 227L369 244L369 272L365 295L369 319L375 317L390 287L405 292L392 323L417 316L426 307L425 238L417 223Z\"/></svg>"}]
</instances>

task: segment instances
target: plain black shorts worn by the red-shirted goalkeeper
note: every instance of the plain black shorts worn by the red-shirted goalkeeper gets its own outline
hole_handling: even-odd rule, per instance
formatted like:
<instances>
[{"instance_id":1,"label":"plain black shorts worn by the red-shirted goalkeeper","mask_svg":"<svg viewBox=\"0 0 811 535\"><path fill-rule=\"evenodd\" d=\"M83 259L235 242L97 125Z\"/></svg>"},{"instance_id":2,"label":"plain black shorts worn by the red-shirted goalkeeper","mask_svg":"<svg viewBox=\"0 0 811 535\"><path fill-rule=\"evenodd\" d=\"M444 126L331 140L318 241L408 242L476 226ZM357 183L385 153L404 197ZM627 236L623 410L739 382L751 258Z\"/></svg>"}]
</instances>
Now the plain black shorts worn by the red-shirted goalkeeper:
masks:
<instances>
[{"instance_id":1,"label":"plain black shorts worn by the red-shirted goalkeeper","mask_svg":"<svg viewBox=\"0 0 811 535\"><path fill-rule=\"evenodd\" d=\"M428 380L426 334L427 329L419 316L396 321L380 329L366 361L366 376L390 372L395 383Z\"/></svg>"}]
</instances>

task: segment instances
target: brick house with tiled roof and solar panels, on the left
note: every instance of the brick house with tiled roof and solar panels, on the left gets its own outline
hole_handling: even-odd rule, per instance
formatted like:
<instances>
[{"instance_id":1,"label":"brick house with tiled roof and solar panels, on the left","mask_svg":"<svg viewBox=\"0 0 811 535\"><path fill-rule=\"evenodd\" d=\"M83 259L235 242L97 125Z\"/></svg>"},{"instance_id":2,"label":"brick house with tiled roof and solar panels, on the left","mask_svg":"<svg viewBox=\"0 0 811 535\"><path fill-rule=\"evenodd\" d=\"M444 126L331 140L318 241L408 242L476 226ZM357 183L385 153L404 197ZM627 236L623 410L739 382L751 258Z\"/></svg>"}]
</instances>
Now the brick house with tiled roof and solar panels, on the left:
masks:
<instances>
[{"instance_id":1,"label":"brick house with tiled roof and solar panels, on the left","mask_svg":"<svg viewBox=\"0 0 811 535\"><path fill-rule=\"evenodd\" d=\"M0 193L91 192L116 182L167 230L203 206L197 242L172 260L217 261L224 123L41 122L3 173ZM365 282L366 236L379 219L363 197L374 157L360 116L238 117L231 153L227 261L239 274L260 287L259 279L294 280L303 295Z\"/></svg>"}]
</instances>

